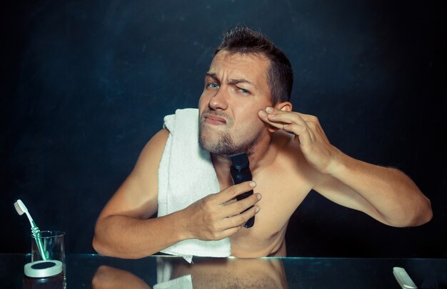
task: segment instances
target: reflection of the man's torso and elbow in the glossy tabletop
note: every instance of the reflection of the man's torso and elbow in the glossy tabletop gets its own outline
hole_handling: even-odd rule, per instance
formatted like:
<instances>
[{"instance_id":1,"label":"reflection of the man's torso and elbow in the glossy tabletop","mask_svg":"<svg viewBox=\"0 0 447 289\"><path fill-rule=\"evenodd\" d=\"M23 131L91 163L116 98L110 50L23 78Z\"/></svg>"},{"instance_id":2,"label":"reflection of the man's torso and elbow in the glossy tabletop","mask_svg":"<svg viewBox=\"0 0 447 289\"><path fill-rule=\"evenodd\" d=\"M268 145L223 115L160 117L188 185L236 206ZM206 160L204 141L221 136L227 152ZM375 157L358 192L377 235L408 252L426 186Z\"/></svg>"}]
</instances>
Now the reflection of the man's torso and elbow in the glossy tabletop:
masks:
<instances>
[{"instance_id":1,"label":"reflection of the man's torso and elbow in the glossy tabletop","mask_svg":"<svg viewBox=\"0 0 447 289\"><path fill-rule=\"evenodd\" d=\"M154 288L288 288L283 261L279 258L156 258ZM141 278L111 266L100 266L94 288L150 288ZM121 287L123 288L123 287Z\"/></svg>"}]
</instances>

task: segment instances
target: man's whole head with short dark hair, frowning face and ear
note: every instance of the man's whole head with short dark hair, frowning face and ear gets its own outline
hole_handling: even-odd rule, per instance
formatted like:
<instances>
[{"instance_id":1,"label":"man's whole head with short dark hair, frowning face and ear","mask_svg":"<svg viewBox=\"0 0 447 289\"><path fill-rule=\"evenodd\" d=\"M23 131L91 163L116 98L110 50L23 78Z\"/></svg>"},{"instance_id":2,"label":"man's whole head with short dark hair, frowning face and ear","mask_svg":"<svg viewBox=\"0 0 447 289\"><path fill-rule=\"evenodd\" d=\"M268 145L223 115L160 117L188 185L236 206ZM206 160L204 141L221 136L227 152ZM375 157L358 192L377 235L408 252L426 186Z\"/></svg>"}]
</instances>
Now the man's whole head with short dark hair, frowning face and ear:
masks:
<instances>
[{"instance_id":1,"label":"man's whole head with short dark hair, frowning face and ear","mask_svg":"<svg viewBox=\"0 0 447 289\"><path fill-rule=\"evenodd\" d=\"M250 154L256 144L268 142L273 130L258 111L291 110L291 79L286 56L265 36L242 26L227 31L199 100L201 147L215 154Z\"/></svg>"}]
</instances>

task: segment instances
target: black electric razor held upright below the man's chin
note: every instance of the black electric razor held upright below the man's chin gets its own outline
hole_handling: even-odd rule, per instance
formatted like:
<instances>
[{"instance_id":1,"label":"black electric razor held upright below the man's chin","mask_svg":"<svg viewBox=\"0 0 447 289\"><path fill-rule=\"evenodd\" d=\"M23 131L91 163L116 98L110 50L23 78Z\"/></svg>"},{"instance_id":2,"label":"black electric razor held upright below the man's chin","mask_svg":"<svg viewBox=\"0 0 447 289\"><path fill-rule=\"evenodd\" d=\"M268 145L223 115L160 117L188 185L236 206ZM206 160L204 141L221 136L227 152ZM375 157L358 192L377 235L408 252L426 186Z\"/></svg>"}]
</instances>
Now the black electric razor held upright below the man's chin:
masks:
<instances>
[{"instance_id":1,"label":"black electric razor held upright below the man's chin","mask_svg":"<svg viewBox=\"0 0 447 289\"><path fill-rule=\"evenodd\" d=\"M230 174L231 179L233 179L233 184L241 184L242 182L251 181L251 172L250 172L250 162L248 161L248 156L245 152L242 152L240 154L231 154L230 156L231 161L231 168L230 168ZM241 199L245 199L248 196L251 196L253 194L253 190L246 191L243 194L240 194L236 196L236 200L240 201ZM253 208L251 206L248 209ZM246 209L245 211L247 211ZM254 225L254 216L252 216L246 224L243 226L245 228L251 228Z\"/></svg>"}]
</instances>

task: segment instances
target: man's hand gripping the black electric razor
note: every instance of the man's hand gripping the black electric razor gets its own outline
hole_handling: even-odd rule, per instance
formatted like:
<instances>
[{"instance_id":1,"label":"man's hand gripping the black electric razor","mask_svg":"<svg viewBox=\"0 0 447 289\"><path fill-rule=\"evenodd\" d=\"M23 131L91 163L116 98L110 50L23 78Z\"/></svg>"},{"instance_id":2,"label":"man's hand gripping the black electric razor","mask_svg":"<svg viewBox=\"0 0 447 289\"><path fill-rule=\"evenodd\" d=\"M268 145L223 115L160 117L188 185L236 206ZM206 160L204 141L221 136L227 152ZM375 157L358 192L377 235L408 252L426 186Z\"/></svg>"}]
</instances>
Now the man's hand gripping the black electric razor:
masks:
<instances>
[{"instance_id":1,"label":"man's hand gripping the black electric razor","mask_svg":"<svg viewBox=\"0 0 447 289\"><path fill-rule=\"evenodd\" d=\"M259 207L253 205L261 199L261 194L253 194L241 201L231 200L251 191L255 186L255 182L236 184L217 194L210 194L182 210L188 238L220 240L239 231L248 219L258 213ZM251 206L253 208L248 209ZM246 209L248 210L245 211Z\"/></svg>"}]
</instances>

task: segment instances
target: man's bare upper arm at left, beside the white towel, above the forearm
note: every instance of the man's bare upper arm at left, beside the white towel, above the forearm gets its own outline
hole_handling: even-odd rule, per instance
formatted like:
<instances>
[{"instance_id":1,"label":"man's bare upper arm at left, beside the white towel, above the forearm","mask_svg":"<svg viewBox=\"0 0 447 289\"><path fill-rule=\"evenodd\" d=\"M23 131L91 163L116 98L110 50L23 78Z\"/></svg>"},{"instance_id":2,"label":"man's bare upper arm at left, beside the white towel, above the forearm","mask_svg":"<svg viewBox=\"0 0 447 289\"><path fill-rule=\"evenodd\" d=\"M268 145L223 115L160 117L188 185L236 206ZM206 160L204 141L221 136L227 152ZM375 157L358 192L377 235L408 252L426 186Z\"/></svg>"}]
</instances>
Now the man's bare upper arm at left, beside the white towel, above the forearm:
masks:
<instances>
[{"instance_id":1,"label":"man's bare upper arm at left, beside the white towel, above the forearm","mask_svg":"<svg viewBox=\"0 0 447 289\"><path fill-rule=\"evenodd\" d=\"M111 215L147 219L156 213L158 170L168 130L160 130L142 149L129 177L106 204L99 218Z\"/></svg>"}]
</instances>

